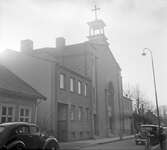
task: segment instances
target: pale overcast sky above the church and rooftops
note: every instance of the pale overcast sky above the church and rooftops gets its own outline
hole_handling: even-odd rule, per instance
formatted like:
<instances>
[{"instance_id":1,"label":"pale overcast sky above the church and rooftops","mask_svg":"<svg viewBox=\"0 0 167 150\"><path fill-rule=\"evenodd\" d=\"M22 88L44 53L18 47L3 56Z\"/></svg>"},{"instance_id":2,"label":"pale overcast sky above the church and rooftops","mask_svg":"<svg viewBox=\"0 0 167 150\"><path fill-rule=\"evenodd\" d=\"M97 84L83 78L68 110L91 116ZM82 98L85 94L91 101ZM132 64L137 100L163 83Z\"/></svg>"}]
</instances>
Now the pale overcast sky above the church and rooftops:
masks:
<instances>
[{"instance_id":1,"label":"pale overcast sky above the church and rooftops","mask_svg":"<svg viewBox=\"0 0 167 150\"><path fill-rule=\"evenodd\" d=\"M86 41L95 3L124 85L138 85L155 104L150 55L141 56L150 48L158 100L167 105L167 0L1 0L0 49L19 50L20 40L27 38L35 48L53 47L59 36L67 44Z\"/></svg>"}]
</instances>

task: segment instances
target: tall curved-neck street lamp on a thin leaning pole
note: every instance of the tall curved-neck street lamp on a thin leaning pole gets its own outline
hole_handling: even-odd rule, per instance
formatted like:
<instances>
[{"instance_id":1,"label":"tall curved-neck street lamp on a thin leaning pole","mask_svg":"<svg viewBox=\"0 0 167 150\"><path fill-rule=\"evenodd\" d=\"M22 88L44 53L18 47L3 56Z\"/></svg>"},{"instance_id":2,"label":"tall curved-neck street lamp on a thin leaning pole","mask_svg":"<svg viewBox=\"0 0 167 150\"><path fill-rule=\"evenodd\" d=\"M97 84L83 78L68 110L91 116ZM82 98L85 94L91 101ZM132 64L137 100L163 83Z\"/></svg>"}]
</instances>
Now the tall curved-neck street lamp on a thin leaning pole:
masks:
<instances>
[{"instance_id":1,"label":"tall curved-neck street lamp on a thin leaning pole","mask_svg":"<svg viewBox=\"0 0 167 150\"><path fill-rule=\"evenodd\" d=\"M150 53L150 56L151 56L152 72L153 72L153 79L154 79L154 92L155 92L157 118L158 118L158 127L159 127L159 133L160 133L160 117L159 117L157 88L156 88L156 81L155 81L154 60L153 60L152 51L151 51L149 48L144 48L144 49L143 49L143 52L142 52L142 55L143 55L143 56L146 56L147 52L149 52L149 53Z\"/></svg>"}]
</instances>

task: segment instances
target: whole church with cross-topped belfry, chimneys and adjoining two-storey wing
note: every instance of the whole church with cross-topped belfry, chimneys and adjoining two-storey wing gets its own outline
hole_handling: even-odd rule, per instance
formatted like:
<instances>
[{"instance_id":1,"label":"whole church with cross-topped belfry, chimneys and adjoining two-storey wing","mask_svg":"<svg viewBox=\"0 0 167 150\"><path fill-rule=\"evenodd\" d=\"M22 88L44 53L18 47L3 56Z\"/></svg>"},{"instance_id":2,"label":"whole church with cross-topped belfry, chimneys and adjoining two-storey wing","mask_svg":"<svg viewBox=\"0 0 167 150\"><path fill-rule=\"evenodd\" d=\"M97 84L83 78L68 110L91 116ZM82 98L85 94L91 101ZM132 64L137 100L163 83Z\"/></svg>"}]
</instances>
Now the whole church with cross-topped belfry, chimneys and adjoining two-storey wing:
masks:
<instances>
[{"instance_id":1,"label":"whole church with cross-topped belfry, chimneys and adjoining two-storey wing","mask_svg":"<svg viewBox=\"0 0 167 150\"><path fill-rule=\"evenodd\" d=\"M121 68L105 36L106 25L94 10L87 41L66 45L59 37L55 47L34 49L33 41L23 40L21 52L9 50L1 58L47 98L38 105L38 123L61 141L122 131Z\"/></svg>"}]
</instances>

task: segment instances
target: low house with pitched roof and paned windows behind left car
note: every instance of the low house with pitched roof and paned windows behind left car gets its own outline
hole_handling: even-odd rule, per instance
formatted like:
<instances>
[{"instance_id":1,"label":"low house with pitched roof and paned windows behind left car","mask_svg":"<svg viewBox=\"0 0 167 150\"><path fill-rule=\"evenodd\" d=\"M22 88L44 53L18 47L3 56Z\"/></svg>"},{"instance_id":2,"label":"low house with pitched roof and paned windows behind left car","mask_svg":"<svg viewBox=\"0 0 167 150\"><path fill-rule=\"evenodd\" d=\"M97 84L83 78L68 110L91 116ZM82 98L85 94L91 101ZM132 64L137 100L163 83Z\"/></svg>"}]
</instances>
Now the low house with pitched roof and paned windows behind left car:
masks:
<instances>
[{"instance_id":1,"label":"low house with pitched roof and paned windows behind left car","mask_svg":"<svg viewBox=\"0 0 167 150\"><path fill-rule=\"evenodd\" d=\"M0 123L36 122L39 100L46 98L0 64Z\"/></svg>"}]
</instances>

